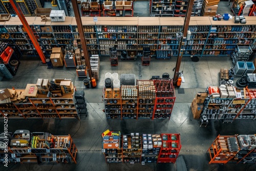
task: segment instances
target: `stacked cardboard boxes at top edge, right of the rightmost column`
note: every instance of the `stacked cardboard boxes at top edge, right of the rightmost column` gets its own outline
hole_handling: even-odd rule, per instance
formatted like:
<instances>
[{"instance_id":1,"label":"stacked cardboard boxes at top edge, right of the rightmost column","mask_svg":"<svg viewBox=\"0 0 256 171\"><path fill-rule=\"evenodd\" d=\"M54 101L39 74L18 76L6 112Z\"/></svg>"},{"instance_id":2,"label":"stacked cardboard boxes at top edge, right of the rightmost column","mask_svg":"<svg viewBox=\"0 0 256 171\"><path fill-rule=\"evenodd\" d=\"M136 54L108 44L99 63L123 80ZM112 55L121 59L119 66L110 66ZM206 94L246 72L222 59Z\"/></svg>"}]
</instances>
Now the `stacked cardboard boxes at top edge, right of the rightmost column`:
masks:
<instances>
[{"instance_id":1,"label":"stacked cardboard boxes at top edge, right of the rightmost column","mask_svg":"<svg viewBox=\"0 0 256 171\"><path fill-rule=\"evenodd\" d=\"M215 16L220 0L204 0L202 16Z\"/></svg>"}]
</instances>

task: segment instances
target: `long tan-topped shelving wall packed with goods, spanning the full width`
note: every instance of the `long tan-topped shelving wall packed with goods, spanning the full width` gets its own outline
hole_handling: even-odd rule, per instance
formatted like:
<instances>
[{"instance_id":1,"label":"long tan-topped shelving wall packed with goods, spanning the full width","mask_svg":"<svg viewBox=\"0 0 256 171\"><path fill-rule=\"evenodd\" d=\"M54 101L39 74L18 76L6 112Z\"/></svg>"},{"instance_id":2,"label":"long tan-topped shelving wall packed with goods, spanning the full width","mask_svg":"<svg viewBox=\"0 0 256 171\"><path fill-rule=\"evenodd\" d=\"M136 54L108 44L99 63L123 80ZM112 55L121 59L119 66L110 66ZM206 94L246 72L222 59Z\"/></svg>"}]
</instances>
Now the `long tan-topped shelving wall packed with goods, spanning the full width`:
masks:
<instances>
[{"instance_id":1,"label":"long tan-topped shelving wall packed with goods, spanning the full width","mask_svg":"<svg viewBox=\"0 0 256 171\"><path fill-rule=\"evenodd\" d=\"M127 54L134 53L142 57L143 48L150 47L151 56L157 59L169 59L178 56L179 40L177 32L182 31L183 17L82 17L84 34L87 39L89 55L98 54L110 56L109 48L114 45L117 55L122 51ZM183 56L231 56L237 45L251 46L252 54L255 52L256 25L254 17L245 17L246 24L235 24L231 20L212 20L209 16L191 16L189 31ZM40 17L26 17L29 25L35 28L38 42L46 56L50 56L52 47L65 47L77 39L80 45L79 33L75 18L66 17L65 22L41 22ZM172 22L168 22L172 20ZM9 32L7 27L16 26L18 31ZM54 30L53 27L66 27L66 31ZM121 27L121 28L120 28ZM106 30L105 30L106 28ZM108 29L110 28L110 29ZM54 30L54 31L53 31ZM36 56L31 42L22 41L19 45L17 39L26 37L22 30L22 23L17 17L11 17L7 22L1 22L1 33L9 33L9 38L1 38L0 42L21 47L22 54ZM16 42L17 41L17 42Z\"/></svg>"}]
</instances>

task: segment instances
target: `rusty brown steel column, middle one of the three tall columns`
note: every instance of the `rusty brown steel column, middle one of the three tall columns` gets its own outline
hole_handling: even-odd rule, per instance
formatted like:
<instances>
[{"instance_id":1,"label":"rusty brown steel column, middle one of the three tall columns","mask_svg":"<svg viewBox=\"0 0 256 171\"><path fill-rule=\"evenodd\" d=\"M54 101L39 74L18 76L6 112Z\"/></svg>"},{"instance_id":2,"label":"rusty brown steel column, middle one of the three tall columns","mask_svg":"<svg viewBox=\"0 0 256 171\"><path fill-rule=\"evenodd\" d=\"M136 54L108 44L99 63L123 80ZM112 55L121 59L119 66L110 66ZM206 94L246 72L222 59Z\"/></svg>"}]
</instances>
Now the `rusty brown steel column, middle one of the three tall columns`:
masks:
<instances>
[{"instance_id":1,"label":"rusty brown steel column, middle one of the three tall columns","mask_svg":"<svg viewBox=\"0 0 256 171\"><path fill-rule=\"evenodd\" d=\"M80 40L81 40L82 49L83 49L83 53L84 53L84 59L86 60L88 74L90 77L90 81L92 82L93 76L92 76L92 70L91 70L91 64L90 64L90 57L89 57L89 53L88 53L88 49L87 49L86 37L84 36L84 32L83 32L82 20L81 20L79 8L78 8L78 3L76 0L71 0L71 2L72 2L72 6L74 9L74 13L75 13L77 29L78 29L78 32L80 35Z\"/></svg>"}]
</instances>

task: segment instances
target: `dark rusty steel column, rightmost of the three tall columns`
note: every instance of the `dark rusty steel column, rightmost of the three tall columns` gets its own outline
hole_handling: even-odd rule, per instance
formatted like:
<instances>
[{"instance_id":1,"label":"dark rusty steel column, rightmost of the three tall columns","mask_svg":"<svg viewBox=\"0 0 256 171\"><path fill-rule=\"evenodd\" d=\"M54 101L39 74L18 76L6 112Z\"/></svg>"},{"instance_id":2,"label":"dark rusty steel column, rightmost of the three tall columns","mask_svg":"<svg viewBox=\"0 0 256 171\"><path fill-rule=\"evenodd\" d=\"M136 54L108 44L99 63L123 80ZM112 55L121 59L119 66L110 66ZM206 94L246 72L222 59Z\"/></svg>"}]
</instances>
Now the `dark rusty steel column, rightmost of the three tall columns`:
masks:
<instances>
[{"instance_id":1,"label":"dark rusty steel column, rightmost of the three tall columns","mask_svg":"<svg viewBox=\"0 0 256 171\"><path fill-rule=\"evenodd\" d=\"M181 64L181 59L183 56L183 47L185 46L185 40L186 40L186 36L187 36L187 30L188 30L188 26L189 26L191 12L193 9L193 4L194 4L194 0L188 0L188 3L187 3L188 10L186 11L186 15L185 15L185 20L184 20L184 25L183 25L183 35L181 36L181 40L179 43L178 57L177 57L176 66L175 66L174 84L176 84L178 81L180 64Z\"/></svg>"}]
</instances>

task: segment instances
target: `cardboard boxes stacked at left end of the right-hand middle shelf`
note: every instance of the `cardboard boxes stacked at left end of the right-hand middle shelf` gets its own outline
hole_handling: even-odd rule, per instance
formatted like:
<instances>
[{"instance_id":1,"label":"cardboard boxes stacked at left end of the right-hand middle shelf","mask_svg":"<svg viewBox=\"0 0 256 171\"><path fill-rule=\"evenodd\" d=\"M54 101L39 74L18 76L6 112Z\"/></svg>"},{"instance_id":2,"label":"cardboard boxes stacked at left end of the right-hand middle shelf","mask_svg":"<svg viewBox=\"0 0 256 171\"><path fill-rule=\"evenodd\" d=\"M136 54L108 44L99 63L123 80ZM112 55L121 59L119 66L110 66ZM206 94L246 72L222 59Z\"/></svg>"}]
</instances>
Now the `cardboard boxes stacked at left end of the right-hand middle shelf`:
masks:
<instances>
[{"instance_id":1,"label":"cardboard boxes stacked at left end of the right-hand middle shelf","mask_svg":"<svg viewBox=\"0 0 256 171\"><path fill-rule=\"evenodd\" d=\"M197 93L191 103L191 111L194 119L199 119L204 106L204 99L208 96L207 93Z\"/></svg>"}]
</instances>

